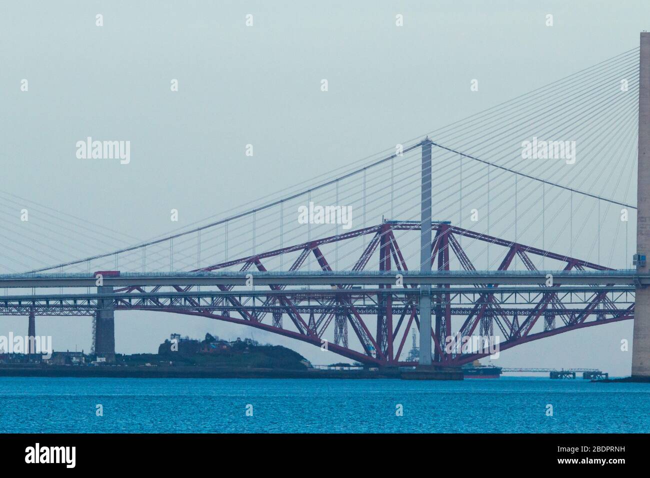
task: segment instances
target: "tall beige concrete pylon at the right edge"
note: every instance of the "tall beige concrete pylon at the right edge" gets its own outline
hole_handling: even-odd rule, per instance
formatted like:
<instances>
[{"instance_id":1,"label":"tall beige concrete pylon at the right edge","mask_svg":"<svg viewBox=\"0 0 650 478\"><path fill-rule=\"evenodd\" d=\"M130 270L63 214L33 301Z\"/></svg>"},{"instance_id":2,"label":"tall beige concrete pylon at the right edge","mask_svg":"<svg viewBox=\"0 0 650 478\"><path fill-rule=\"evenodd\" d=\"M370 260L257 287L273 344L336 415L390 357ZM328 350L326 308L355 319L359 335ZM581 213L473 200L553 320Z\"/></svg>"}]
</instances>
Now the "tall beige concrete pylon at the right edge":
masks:
<instances>
[{"instance_id":1,"label":"tall beige concrete pylon at the right edge","mask_svg":"<svg viewBox=\"0 0 650 478\"><path fill-rule=\"evenodd\" d=\"M650 33L641 33L636 252L650 257ZM627 259L627 258L626 258ZM638 267L647 274L647 263ZM650 377L650 288L636 289L632 377Z\"/></svg>"}]
</instances>

